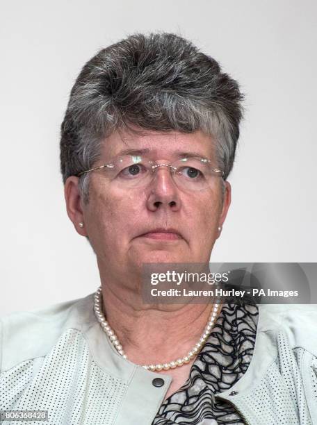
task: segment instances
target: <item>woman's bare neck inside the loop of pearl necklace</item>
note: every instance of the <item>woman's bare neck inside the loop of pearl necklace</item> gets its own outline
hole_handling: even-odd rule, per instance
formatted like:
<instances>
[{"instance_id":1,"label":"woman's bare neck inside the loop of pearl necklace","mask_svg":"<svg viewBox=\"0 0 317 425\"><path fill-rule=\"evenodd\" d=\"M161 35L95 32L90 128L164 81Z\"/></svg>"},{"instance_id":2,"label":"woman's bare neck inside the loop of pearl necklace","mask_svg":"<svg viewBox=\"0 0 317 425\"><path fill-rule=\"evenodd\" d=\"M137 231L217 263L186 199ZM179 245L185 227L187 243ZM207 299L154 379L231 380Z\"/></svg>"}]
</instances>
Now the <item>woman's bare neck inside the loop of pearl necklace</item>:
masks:
<instances>
[{"instance_id":1,"label":"woman's bare neck inside the loop of pearl necklace","mask_svg":"<svg viewBox=\"0 0 317 425\"><path fill-rule=\"evenodd\" d=\"M185 356L200 340L212 304L145 305L136 291L102 281L106 319L129 360L139 365ZM137 287L136 287L137 288Z\"/></svg>"}]
</instances>

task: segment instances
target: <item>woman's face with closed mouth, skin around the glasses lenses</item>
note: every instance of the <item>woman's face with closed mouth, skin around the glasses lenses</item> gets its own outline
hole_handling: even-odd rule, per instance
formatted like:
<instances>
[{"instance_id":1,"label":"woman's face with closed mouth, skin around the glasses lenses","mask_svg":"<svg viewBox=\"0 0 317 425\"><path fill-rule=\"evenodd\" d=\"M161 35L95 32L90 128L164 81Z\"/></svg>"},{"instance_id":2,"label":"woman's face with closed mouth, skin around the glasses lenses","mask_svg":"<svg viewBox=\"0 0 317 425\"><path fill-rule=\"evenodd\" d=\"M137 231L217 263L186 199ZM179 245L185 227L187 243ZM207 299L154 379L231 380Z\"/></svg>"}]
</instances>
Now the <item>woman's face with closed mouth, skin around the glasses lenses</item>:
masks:
<instances>
[{"instance_id":1,"label":"woman's face with closed mouth, skin around the glasses lenses","mask_svg":"<svg viewBox=\"0 0 317 425\"><path fill-rule=\"evenodd\" d=\"M179 152L215 158L212 138L201 132L147 131L143 136L116 132L104 142L96 165L127 149L149 149L149 156L161 164L172 163ZM99 266L121 272L133 273L142 263L208 263L230 203L227 182L222 202L221 178L213 178L207 190L190 192L175 185L169 167L158 167L152 182L141 189L109 181L102 170L91 172L87 205L76 202L78 178L69 180L67 211L76 230L88 235Z\"/></svg>"}]
</instances>

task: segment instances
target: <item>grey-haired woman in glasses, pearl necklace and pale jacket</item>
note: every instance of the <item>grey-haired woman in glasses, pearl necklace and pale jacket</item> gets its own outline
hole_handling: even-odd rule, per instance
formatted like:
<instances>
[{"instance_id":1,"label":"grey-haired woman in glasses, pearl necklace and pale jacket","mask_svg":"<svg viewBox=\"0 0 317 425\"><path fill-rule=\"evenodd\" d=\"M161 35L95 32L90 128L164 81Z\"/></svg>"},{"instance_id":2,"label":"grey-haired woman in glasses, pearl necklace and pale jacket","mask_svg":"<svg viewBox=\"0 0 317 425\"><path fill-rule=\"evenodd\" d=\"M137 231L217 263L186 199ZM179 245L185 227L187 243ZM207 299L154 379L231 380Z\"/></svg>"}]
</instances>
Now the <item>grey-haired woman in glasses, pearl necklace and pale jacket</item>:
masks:
<instances>
[{"instance_id":1,"label":"grey-haired woman in glasses, pearl necklace and pale jacket","mask_svg":"<svg viewBox=\"0 0 317 425\"><path fill-rule=\"evenodd\" d=\"M242 98L172 34L132 35L83 67L60 160L101 287L3 319L2 410L67 425L317 423L316 308L142 297L144 263L209 263Z\"/></svg>"}]
</instances>

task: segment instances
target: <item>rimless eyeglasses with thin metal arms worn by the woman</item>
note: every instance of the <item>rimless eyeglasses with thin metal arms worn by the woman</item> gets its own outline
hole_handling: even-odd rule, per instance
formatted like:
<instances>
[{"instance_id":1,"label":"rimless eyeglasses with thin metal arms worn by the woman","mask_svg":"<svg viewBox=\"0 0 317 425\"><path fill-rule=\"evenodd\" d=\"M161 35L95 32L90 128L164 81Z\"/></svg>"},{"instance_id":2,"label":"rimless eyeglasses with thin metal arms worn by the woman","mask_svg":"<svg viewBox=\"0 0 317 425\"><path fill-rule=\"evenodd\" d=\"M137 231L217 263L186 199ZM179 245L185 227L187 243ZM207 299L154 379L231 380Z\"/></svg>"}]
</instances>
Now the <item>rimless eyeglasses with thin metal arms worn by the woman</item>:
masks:
<instances>
[{"instance_id":1,"label":"rimless eyeglasses with thin metal arms worn by the woman","mask_svg":"<svg viewBox=\"0 0 317 425\"><path fill-rule=\"evenodd\" d=\"M102 169L106 178L117 181L127 189L143 188L151 183L155 171L160 167L168 167L174 183L181 190L205 190L210 187L216 177L222 177L221 169L214 168L207 158L181 158L172 164L157 164L147 156L124 155L111 163L99 165L83 171L77 176Z\"/></svg>"}]
</instances>

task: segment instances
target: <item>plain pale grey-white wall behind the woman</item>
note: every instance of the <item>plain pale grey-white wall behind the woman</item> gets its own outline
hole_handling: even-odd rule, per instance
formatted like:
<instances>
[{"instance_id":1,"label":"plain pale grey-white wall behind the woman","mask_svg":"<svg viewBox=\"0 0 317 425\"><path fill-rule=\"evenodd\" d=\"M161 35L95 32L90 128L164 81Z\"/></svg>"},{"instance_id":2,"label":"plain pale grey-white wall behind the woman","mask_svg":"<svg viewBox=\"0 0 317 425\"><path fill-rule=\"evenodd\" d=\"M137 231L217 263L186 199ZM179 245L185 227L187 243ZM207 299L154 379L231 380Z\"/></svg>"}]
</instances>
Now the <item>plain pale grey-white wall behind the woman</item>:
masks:
<instances>
[{"instance_id":1,"label":"plain pale grey-white wall behind the woman","mask_svg":"<svg viewBox=\"0 0 317 425\"><path fill-rule=\"evenodd\" d=\"M135 32L193 41L236 78L246 115L211 260L315 262L314 0L1 1L0 315L99 286L65 210L59 131L81 67Z\"/></svg>"}]
</instances>

